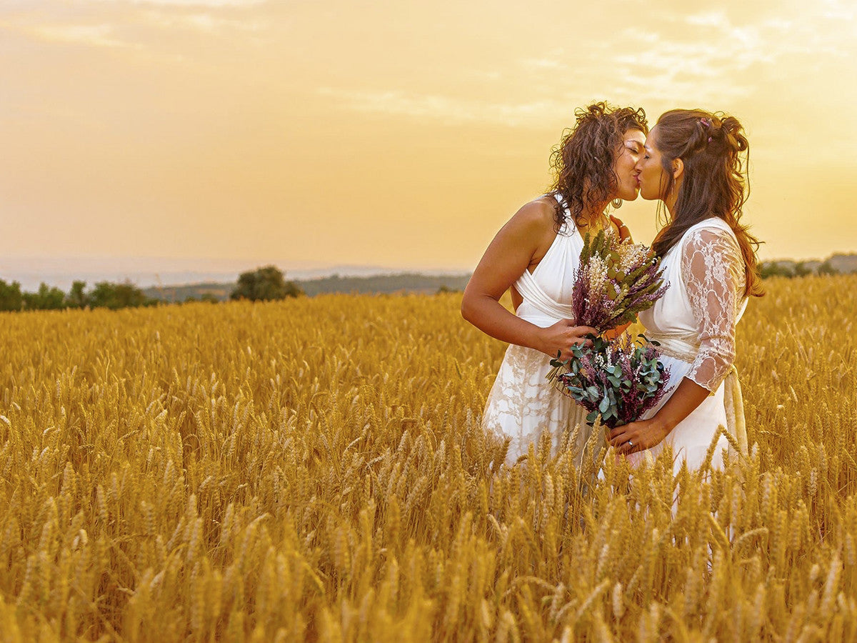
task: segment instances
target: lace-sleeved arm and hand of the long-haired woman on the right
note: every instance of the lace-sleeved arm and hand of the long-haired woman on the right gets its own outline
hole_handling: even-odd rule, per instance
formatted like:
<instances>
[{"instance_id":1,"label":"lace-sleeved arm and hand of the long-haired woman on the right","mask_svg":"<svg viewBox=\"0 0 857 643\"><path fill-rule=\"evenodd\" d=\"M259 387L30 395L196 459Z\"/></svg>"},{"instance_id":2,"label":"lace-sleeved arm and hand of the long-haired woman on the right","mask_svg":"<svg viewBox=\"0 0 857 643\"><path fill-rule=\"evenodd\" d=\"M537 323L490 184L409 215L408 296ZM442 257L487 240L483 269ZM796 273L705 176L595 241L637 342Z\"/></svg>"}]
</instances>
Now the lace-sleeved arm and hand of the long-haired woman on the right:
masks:
<instances>
[{"instance_id":1,"label":"lace-sleeved arm and hand of the long-haired woman on the right","mask_svg":"<svg viewBox=\"0 0 857 643\"><path fill-rule=\"evenodd\" d=\"M610 431L620 454L652 448L703 403L735 357L735 322L744 288L744 260L725 231L695 231L681 255L682 277L699 335L699 352L669 400L648 419ZM628 446L628 441L633 446Z\"/></svg>"}]
</instances>

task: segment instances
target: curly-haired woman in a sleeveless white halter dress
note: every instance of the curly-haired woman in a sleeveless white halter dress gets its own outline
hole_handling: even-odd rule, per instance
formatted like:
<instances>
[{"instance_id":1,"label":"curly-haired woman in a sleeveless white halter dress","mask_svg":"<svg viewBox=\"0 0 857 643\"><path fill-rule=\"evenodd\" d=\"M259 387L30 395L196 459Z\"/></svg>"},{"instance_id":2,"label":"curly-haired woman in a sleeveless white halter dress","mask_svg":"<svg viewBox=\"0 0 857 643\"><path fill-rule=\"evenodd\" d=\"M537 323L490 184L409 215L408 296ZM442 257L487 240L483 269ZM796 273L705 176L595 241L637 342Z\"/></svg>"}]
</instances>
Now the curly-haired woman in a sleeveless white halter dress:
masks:
<instances>
[{"instance_id":1,"label":"curly-haired woman in a sleeveless white halter dress","mask_svg":"<svg viewBox=\"0 0 857 643\"><path fill-rule=\"evenodd\" d=\"M551 158L552 189L521 207L500 229L476 266L461 314L482 332L511 346L488 394L482 423L509 440L506 464L527 454L547 431L554 451L564 431L578 430L578 462L588 438L582 407L545 382L551 358L569 357L572 345L595 329L572 319L572 285L583 235L608 228L628 236L608 206L638 195L634 167L648 125L643 110L590 105L576 112ZM512 313L500 297L512 291Z\"/></svg>"}]
</instances>

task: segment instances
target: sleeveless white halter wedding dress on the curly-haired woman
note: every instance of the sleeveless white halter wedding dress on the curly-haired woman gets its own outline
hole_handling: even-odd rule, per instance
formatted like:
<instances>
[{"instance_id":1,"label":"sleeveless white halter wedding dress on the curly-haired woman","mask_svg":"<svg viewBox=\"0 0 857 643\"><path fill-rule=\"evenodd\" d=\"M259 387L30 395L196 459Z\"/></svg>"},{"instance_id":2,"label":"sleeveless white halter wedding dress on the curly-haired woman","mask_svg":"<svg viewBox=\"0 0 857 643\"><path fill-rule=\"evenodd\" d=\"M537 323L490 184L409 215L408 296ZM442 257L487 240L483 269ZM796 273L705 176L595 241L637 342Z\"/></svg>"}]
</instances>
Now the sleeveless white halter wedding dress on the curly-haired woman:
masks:
<instances>
[{"instance_id":1,"label":"sleeveless white halter wedding dress on the curly-haired woman","mask_svg":"<svg viewBox=\"0 0 857 643\"><path fill-rule=\"evenodd\" d=\"M555 197L560 201L560 197ZM560 201L561 202L561 201ZM572 319L572 286L580 263L583 238L566 209L566 221L548 252L532 273L525 270L515 282L523 298L515 314L538 327L546 328L562 319ZM581 447L590 435L586 412L574 400L550 386L546 377L551 358L524 346L510 345L500 364L494 386L488 394L482 426L511 442L506 465L512 466L526 455L530 444L548 432L553 453L560 447L563 433L578 432L578 461Z\"/></svg>"}]
</instances>

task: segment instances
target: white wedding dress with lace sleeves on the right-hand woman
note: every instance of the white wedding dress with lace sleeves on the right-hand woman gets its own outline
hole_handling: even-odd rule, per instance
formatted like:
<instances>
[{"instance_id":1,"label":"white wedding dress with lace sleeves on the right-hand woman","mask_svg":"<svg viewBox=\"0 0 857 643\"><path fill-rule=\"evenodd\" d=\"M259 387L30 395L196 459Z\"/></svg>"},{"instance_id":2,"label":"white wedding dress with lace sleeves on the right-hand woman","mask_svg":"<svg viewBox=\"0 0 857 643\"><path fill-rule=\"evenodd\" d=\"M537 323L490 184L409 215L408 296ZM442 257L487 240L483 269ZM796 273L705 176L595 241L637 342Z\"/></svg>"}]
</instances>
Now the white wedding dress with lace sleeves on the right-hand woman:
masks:
<instances>
[{"instance_id":1,"label":"white wedding dress with lace sleeves on the right-hand woman","mask_svg":"<svg viewBox=\"0 0 857 643\"><path fill-rule=\"evenodd\" d=\"M669 368L668 394L644 417L650 418L685 377L711 394L653 448L628 456L638 465L672 445L674 472L681 463L691 470L704 463L719 426L733 433L746 453L746 430L735 356L735 324L746 309L744 260L734 232L719 218L693 225L663 257L668 290L640 313L646 336L662 344L662 362ZM725 380L725 382L724 382ZM725 385L724 385L725 383ZM721 436L711 465L722 468Z\"/></svg>"}]
</instances>

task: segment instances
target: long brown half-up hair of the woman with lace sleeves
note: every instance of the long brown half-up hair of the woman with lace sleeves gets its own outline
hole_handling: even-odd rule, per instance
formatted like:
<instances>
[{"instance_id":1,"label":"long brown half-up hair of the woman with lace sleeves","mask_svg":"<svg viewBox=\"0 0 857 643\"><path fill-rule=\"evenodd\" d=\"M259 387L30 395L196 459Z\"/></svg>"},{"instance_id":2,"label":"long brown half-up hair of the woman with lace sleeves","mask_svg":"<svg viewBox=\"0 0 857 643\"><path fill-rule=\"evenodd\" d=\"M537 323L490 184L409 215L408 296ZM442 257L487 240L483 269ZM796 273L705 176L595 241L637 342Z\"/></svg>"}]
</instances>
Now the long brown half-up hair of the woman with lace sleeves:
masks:
<instances>
[{"instance_id":1,"label":"long brown half-up hair of the woman with lace sleeves","mask_svg":"<svg viewBox=\"0 0 857 643\"><path fill-rule=\"evenodd\" d=\"M740 222L750 195L746 176L750 143L741 123L719 111L672 110L657 119L656 128L656 146L667 177L663 194L670 194L675 187L674 159L681 159L684 172L673 219L652 243L655 254L665 255L692 225L712 216L719 217L732 228L744 257L746 295L761 297L764 291L756 257L759 241Z\"/></svg>"}]
</instances>

